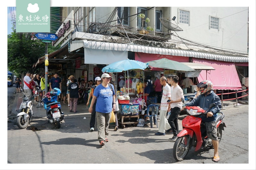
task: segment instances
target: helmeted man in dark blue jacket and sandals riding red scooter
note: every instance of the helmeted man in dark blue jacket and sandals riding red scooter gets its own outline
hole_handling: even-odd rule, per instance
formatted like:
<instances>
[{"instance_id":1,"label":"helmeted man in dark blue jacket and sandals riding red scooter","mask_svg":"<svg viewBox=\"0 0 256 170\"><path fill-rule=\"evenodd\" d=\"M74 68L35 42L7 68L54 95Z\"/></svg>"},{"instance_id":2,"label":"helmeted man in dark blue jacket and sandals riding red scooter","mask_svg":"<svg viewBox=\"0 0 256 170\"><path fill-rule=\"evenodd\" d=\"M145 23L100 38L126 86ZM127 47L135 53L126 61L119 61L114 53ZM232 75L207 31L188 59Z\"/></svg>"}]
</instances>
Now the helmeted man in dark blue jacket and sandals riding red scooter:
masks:
<instances>
[{"instance_id":1,"label":"helmeted man in dark blue jacket and sandals riding red scooter","mask_svg":"<svg viewBox=\"0 0 256 170\"><path fill-rule=\"evenodd\" d=\"M213 91L212 82L209 80L204 80L200 82L197 87L201 91L201 95L199 95L195 100L190 101L187 106L199 106L200 108L207 110L210 104L215 103L215 107L212 107L208 110L206 117L200 116L202 121L205 122L207 136L212 139L212 144L214 147L214 157L213 161L218 162L220 160L218 147L218 137L217 137L217 127L216 127L216 116L217 113L220 112L221 102L219 96L217 96ZM182 109L184 109L183 107Z\"/></svg>"}]
</instances>

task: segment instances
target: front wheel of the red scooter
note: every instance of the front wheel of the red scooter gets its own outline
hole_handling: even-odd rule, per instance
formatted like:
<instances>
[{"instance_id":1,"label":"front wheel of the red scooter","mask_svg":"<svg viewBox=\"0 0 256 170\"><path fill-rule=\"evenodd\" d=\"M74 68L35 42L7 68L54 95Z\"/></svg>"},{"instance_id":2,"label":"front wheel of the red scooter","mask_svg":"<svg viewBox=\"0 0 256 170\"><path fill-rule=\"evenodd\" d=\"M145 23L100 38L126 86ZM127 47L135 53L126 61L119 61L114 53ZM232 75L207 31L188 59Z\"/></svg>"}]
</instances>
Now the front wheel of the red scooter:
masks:
<instances>
[{"instance_id":1,"label":"front wheel of the red scooter","mask_svg":"<svg viewBox=\"0 0 256 170\"><path fill-rule=\"evenodd\" d=\"M173 157L177 161L182 161L185 159L185 157L188 154L189 151L189 143L185 143L185 139L188 140L188 135L183 136L183 137L178 137L178 139L175 141L174 146L173 146Z\"/></svg>"}]
</instances>

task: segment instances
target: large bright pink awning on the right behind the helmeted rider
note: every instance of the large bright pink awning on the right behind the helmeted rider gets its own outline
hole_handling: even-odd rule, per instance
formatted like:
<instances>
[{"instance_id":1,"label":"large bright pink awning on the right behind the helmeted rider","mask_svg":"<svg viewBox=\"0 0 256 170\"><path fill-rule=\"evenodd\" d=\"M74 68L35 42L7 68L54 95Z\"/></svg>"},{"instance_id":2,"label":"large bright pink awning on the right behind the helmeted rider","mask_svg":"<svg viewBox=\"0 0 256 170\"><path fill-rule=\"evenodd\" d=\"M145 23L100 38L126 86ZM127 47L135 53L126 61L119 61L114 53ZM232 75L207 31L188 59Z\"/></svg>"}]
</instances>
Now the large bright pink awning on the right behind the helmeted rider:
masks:
<instances>
[{"instance_id":1,"label":"large bright pink awning on the right behind the helmeted rider","mask_svg":"<svg viewBox=\"0 0 256 170\"><path fill-rule=\"evenodd\" d=\"M205 64L215 69L207 72L202 70L198 77L199 82L210 80L213 84L213 89L218 90L242 89L234 63L201 58L193 58L193 63Z\"/></svg>"}]
</instances>

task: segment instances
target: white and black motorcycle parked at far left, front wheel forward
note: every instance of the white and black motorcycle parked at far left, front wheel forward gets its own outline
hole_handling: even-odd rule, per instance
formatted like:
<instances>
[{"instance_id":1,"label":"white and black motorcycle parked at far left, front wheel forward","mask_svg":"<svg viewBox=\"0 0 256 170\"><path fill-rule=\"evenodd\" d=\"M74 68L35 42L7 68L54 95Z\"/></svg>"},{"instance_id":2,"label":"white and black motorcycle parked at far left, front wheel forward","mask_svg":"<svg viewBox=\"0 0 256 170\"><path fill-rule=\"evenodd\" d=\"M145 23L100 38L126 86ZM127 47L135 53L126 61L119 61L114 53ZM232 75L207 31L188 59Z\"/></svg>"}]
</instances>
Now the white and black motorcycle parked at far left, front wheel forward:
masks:
<instances>
[{"instance_id":1,"label":"white and black motorcycle parked at far left, front wheel forward","mask_svg":"<svg viewBox=\"0 0 256 170\"><path fill-rule=\"evenodd\" d=\"M39 87L37 88L39 89ZM17 114L17 125L20 129L24 129L28 126L28 123L33 115L33 103L31 100L34 98L34 95L31 97L31 99L29 99L22 89L20 89L20 91L24 94L24 96Z\"/></svg>"}]
</instances>

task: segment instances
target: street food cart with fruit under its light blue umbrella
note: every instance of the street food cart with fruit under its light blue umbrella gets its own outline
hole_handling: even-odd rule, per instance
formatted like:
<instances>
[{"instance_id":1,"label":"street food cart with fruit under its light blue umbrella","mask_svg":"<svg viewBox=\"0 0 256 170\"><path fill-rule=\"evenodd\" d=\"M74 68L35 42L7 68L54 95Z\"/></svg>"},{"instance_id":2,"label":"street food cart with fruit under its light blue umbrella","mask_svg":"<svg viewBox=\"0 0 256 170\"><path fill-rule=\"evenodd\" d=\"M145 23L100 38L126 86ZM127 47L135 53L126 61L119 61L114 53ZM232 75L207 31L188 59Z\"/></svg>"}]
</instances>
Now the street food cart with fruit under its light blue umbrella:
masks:
<instances>
[{"instance_id":1,"label":"street food cart with fruit under its light blue umbrella","mask_svg":"<svg viewBox=\"0 0 256 170\"><path fill-rule=\"evenodd\" d=\"M138 70L144 70L147 67L148 67L148 64L146 64L146 63L127 59L127 60L122 60L122 61L118 61L118 62L109 64L108 66L106 66L102 69L102 72L103 73L104 72L115 73L115 72L125 71L125 79L127 78L128 82L129 82L130 74L131 74L131 72L129 72L129 70L134 70L134 71L138 72ZM144 76L144 75L142 75L142 76ZM134 78L134 77L132 77L132 78ZM137 83L136 83L136 85L137 85ZM140 87L142 88L142 86L140 86ZM127 92L127 94L126 94L126 92ZM130 98L130 96L129 96L130 93L132 95L135 95L135 91L130 91L130 83L128 83L127 91L126 91L126 85L125 85L123 91L117 92L117 99L118 99L118 104L119 104L119 109L120 109L118 112L118 115L120 116L119 123L121 124L122 127L125 127L125 124L138 123L138 121L137 120L135 121L135 119L139 118L139 108L140 108L141 104L143 105L142 102L141 103L133 102L135 99ZM125 122L124 119L128 119L128 120Z\"/></svg>"}]
</instances>

